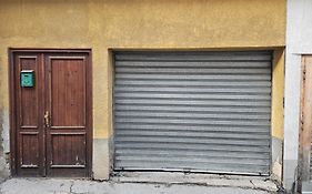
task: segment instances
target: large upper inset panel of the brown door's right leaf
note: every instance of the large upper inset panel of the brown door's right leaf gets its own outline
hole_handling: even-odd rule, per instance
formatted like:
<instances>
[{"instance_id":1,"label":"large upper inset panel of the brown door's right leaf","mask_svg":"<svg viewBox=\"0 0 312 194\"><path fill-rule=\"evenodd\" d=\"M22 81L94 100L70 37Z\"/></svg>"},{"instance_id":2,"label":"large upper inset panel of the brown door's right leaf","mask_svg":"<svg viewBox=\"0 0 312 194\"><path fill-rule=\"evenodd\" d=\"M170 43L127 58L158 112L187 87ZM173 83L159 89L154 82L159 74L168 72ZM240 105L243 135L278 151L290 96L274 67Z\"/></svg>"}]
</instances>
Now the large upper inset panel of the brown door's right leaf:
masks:
<instances>
[{"instance_id":1,"label":"large upper inset panel of the brown door's right leaf","mask_svg":"<svg viewBox=\"0 0 312 194\"><path fill-rule=\"evenodd\" d=\"M85 126L84 58L50 58L51 126Z\"/></svg>"}]
</instances>

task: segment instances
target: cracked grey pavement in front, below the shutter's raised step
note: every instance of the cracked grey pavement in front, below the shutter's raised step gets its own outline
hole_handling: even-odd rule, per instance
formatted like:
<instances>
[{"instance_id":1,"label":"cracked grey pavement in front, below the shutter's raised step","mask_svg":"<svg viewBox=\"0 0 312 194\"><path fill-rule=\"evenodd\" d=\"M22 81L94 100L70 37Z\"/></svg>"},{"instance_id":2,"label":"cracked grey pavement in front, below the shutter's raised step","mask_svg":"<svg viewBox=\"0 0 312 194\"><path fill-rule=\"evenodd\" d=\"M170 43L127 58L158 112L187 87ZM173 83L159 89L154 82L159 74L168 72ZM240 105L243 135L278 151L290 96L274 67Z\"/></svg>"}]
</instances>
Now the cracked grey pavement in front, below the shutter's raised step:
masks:
<instances>
[{"instance_id":1,"label":"cracked grey pavement in front, below the shutter's raised step","mask_svg":"<svg viewBox=\"0 0 312 194\"><path fill-rule=\"evenodd\" d=\"M227 180L223 180L227 182ZM177 183L122 183L68 178L10 178L0 194L268 194L261 188Z\"/></svg>"}]
</instances>

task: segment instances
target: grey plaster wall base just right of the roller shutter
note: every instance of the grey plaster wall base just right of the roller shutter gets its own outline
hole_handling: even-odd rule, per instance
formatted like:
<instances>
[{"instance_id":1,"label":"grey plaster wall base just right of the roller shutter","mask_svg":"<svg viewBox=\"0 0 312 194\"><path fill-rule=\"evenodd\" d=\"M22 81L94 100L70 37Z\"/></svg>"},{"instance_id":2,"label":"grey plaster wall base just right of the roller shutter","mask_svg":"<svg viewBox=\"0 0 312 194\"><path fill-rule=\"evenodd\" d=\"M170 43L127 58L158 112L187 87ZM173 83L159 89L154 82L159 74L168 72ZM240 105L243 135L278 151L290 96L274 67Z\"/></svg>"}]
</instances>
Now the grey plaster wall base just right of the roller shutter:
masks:
<instances>
[{"instance_id":1,"label":"grey plaster wall base just right of the roller shutter","mask_svg":"<svg viewBox=\"0 0 312 194\"><path fill-rule=\"evenodd\" d=\"M272 136L272 176L282 182L283 140Z\"/></svg>"}]
</instances>

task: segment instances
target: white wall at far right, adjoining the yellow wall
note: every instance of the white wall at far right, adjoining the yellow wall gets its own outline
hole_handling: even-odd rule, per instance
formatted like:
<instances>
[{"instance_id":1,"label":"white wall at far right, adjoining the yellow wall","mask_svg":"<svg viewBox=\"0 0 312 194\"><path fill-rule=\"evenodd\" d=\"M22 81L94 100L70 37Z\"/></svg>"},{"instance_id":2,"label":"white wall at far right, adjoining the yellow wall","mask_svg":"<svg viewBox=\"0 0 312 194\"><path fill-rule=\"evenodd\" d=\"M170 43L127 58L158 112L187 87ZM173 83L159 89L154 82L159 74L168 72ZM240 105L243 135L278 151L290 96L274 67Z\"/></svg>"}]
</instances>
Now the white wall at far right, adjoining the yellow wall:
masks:
<instances>
[{"instance_id":1,"label":"white wall at far right, adjoining the yellow wall","mask_svg":"<svg viewBox=\"0 0 312 194\"><path fill-rule=\"evenodd\" d=\"M284 110L284 186L291 190L298 175L300 127L301 60L312 54L312 1L288 1L285 110Z\"/></svg>"}]
</instances>

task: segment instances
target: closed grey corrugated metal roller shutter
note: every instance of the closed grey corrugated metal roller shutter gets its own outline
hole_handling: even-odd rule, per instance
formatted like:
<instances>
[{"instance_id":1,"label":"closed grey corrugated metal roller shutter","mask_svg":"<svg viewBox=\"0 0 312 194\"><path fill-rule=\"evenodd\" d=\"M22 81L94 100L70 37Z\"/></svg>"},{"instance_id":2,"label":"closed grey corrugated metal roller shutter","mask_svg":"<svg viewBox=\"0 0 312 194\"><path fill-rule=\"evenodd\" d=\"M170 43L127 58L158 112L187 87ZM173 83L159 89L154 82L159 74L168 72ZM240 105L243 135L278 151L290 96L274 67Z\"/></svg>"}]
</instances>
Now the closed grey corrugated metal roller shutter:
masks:
<instances>
[{"instance_id":1,"label":"closed grey corrugated metal roller shutter","mask_svg":"<svg viewBox=\"0 0 312 194\"><path fill-rule=\"evenodd\" d=\"M114 170L269 174L271 52L117 52Z\"/></svg>"}]
</instances>

